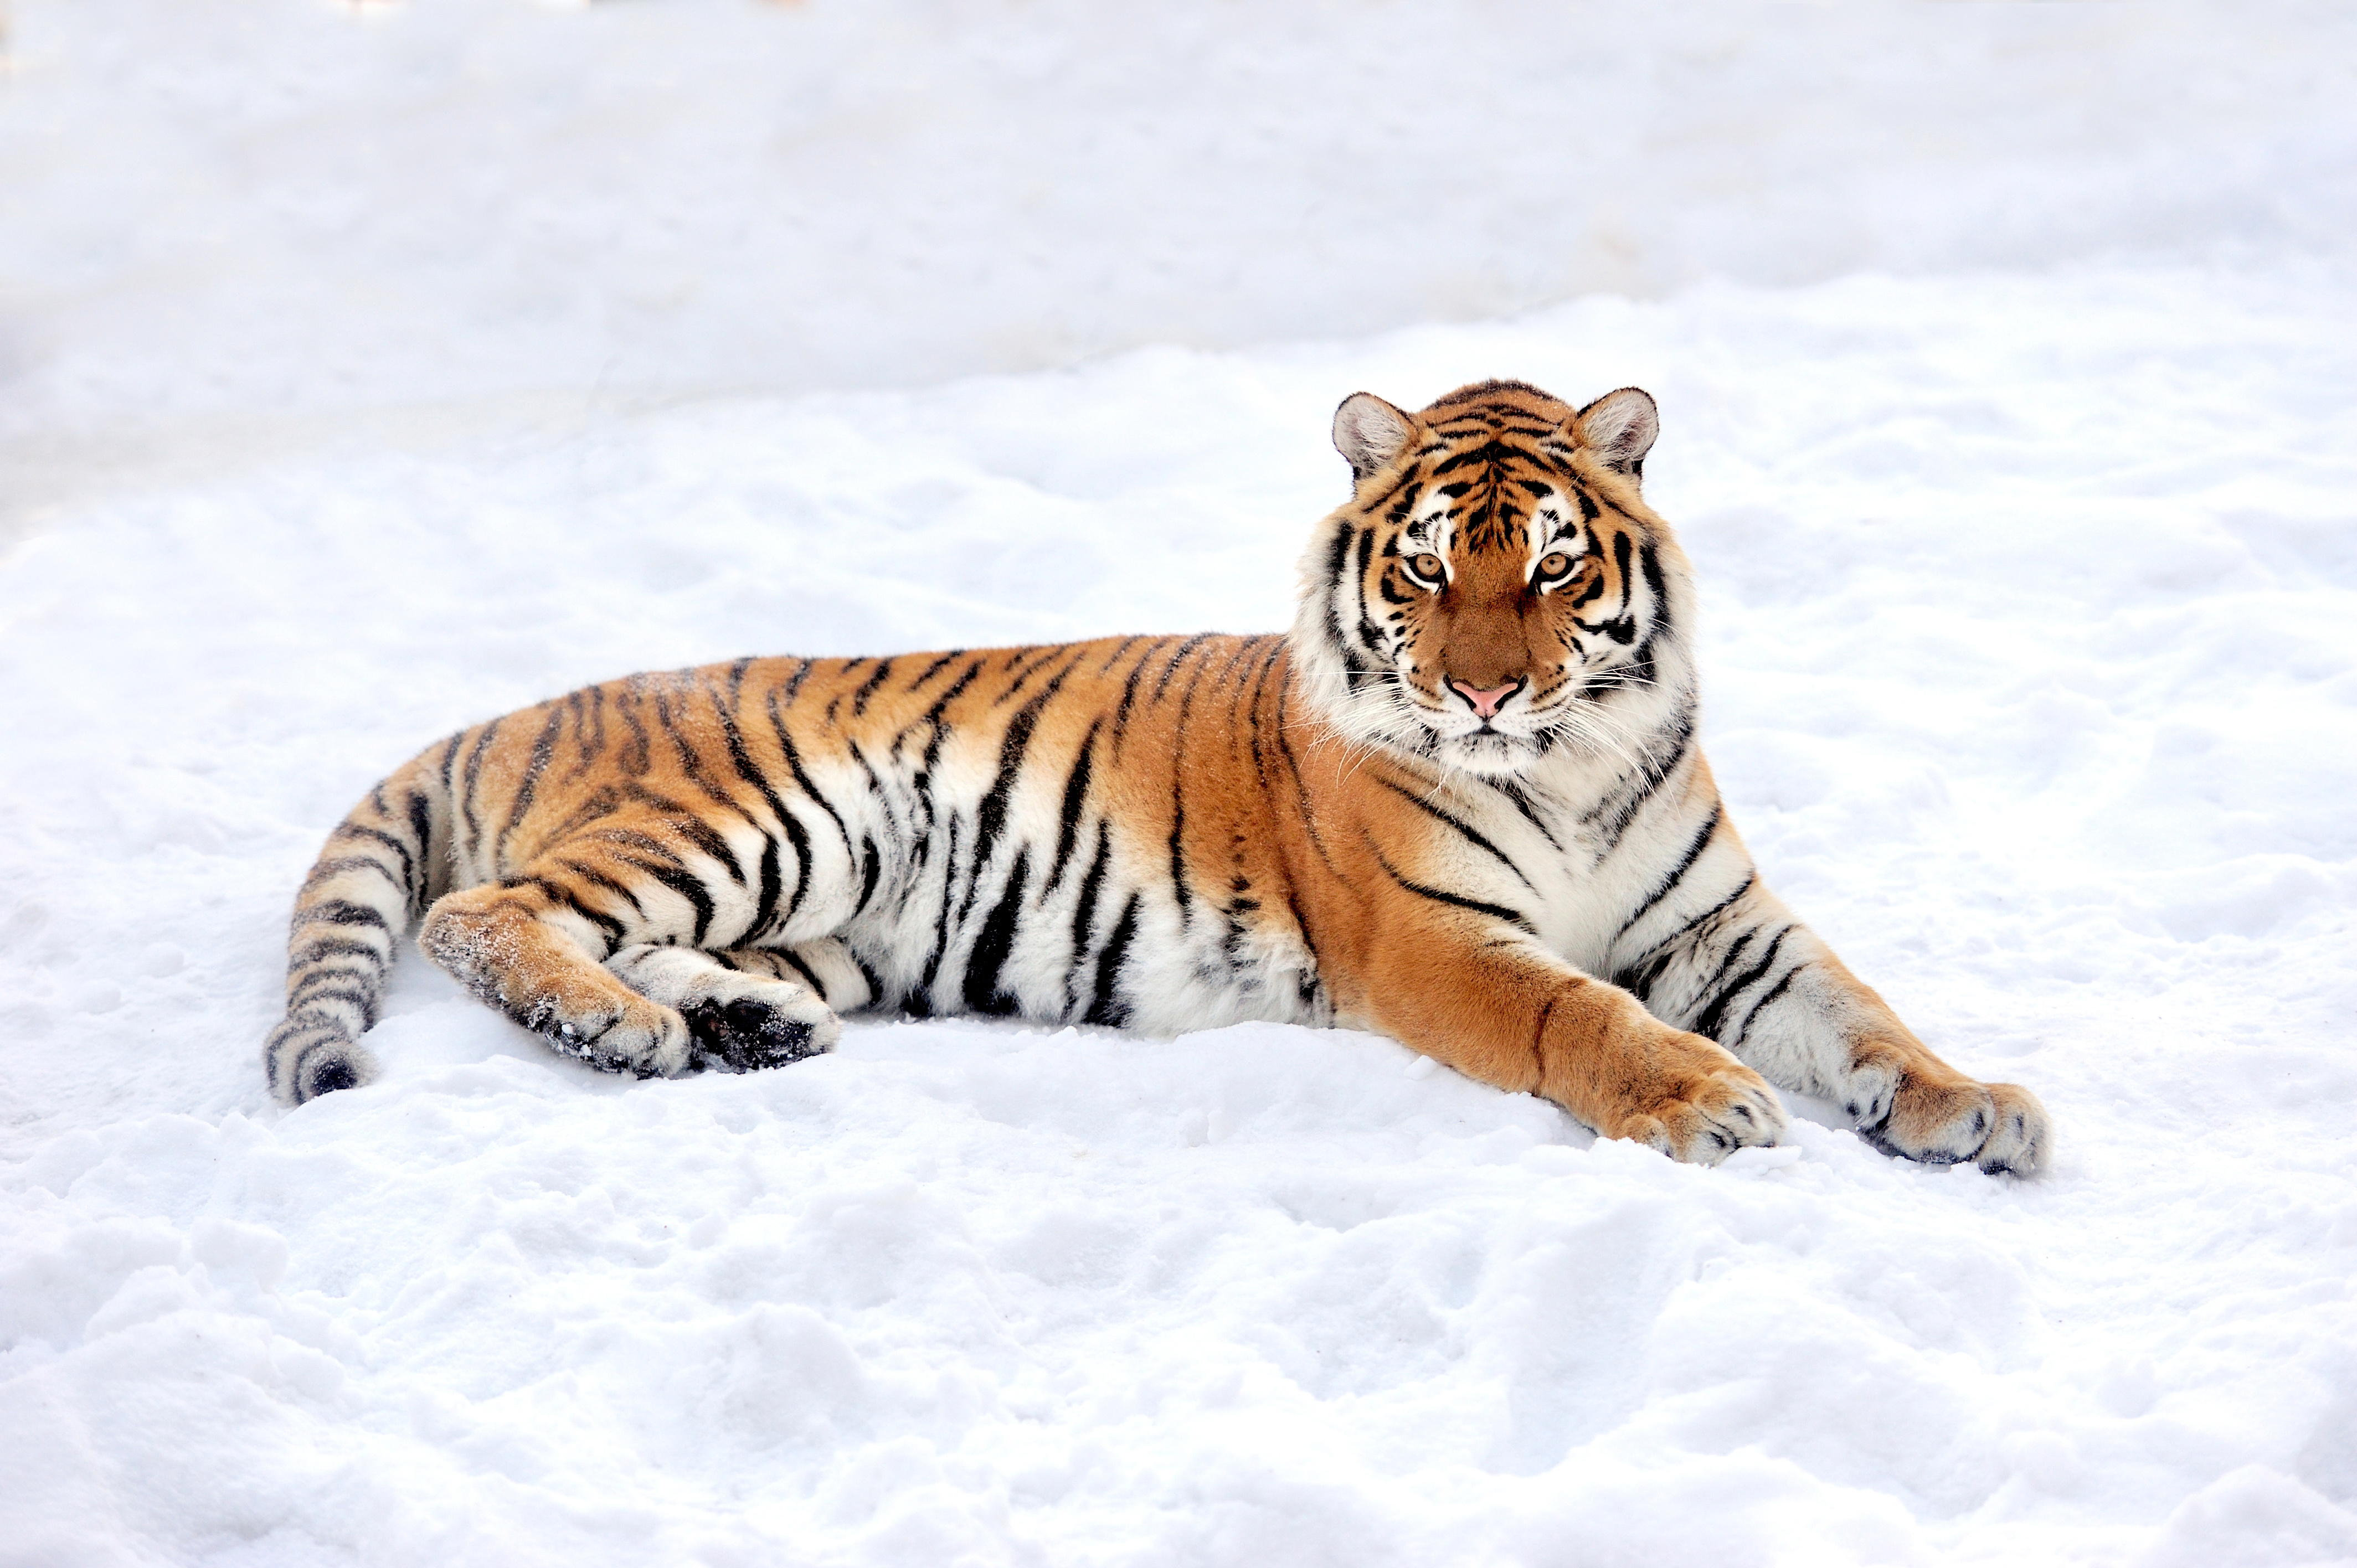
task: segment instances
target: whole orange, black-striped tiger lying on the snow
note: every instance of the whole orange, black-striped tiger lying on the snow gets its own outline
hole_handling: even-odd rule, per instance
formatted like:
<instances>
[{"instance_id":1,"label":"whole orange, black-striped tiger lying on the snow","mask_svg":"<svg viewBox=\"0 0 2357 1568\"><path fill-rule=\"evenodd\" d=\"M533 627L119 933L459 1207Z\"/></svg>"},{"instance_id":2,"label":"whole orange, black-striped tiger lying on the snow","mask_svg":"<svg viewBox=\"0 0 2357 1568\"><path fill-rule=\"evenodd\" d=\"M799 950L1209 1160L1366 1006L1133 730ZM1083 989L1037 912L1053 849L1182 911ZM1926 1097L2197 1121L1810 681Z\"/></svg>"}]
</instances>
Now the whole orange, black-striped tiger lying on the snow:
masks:
<instances>
[{"instance_id":1,"label":"whole orange, black-striped tiger lying on the snow","mask_svg":"<svg viewBox=\"0 0 2357 1568\"><path fill-rule=\"evenodd\" d=\"M556 1052L785 1066L841 1014L1388 1035L1718 1162L1822 1096L1890 1155L2048 1165L1768 891L1697 743L1650 394L1334 413L1351 498L1282 634L740 658L427 747L328 837L264 1068L377 1075L394 946Z\"/></svg>"}]
</instances>

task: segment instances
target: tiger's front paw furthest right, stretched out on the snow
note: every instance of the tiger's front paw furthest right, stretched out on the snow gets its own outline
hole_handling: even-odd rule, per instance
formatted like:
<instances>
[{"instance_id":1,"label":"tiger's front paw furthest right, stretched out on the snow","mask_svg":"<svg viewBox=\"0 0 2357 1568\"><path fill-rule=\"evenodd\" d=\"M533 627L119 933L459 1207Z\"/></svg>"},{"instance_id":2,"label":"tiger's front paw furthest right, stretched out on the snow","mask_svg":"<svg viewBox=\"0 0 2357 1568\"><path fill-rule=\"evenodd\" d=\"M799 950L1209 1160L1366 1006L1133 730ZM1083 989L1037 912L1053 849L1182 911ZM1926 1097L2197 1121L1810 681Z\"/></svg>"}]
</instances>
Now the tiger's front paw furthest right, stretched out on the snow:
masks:
<instances>
[{"instance_id":1,"label":"tiger's front paw furthest right, stretched out on the snow","mask_svg":"<svg viewBox=\"0 0 2357 1568\"><path fill-rule=\"evenodd\" d=\"M1978 1082L1928 1052L1862 1049L1843 1111L1857 1137L1923 1165L1975 1162L1987 1174L2032 1177L2053 1160L2053 1118L2020 1085Z\"/></svg>"}]
</instances>

